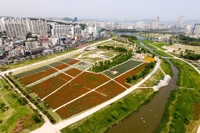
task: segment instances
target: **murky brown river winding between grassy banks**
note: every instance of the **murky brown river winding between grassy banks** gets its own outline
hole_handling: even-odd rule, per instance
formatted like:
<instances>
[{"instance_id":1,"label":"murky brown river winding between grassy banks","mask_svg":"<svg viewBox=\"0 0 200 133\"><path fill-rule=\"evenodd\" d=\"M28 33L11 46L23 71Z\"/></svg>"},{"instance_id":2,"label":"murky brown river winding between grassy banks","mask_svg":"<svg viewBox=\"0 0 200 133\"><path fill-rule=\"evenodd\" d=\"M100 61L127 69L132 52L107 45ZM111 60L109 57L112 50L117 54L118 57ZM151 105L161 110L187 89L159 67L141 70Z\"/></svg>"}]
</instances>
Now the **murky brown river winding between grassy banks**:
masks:
<instances>
[{"instance_id":1,"label":"murky brown river winding between grassy banks","mask_svg":"<svg viewBox=\"0 0 200 133\"><path fill-rule=\"evenodd\" d=\"M124 34L124 33L123 33ZM130 33L129 33L130 34ZM167 59L173 70L169 85L162 87L146 105L122 122L110 128L107 133L153 133L161 123L171 91L177 89L178 69Z\"/></svg>"}]
</instances>

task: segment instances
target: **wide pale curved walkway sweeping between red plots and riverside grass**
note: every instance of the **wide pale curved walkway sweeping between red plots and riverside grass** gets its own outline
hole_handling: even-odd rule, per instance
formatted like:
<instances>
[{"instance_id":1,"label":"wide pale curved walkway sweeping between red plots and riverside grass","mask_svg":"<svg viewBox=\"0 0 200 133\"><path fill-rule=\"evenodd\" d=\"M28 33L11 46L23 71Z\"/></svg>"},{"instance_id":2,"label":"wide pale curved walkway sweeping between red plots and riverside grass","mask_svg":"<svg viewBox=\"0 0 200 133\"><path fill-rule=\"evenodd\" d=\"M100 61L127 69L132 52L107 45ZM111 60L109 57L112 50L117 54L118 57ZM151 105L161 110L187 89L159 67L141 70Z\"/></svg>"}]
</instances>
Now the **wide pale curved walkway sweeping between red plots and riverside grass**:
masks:
<instances>
[{"instance_id":1,"label":"wide pale curved walkway sweeping between red plots and riverside grass","mask_svg":"<svg viewBox=\"0 0 200 133\"><path fill-rule=\"evenodd\" d=\"M117 100L123 98L124 96L128 95L129 93L131 93L132 91L134 91L135 89L137 89L141 84L143 84L146 80L148 80L160 67L160 60L158 58L156 58L157 60L157 63L156 63L156 67L154 68L154 70L148 75L146 76L142 81L140 81L139 83L137 83L136 85L132 86L131 88L129 88L128 90L124 91L123 93L117 95L116 97L100 104L100 105L97 105L96 107L93 107L79 115L76 115L74 117L71 117L69 119L66 119L66 120L63 120L61 121L60 123L58 124L44 124L41 128L33 131L32 133L56 133L58 132L59 130L99 111L100 109L110 105L111 103L113 102L116 102Z\"/></svg>"}]
</instances>

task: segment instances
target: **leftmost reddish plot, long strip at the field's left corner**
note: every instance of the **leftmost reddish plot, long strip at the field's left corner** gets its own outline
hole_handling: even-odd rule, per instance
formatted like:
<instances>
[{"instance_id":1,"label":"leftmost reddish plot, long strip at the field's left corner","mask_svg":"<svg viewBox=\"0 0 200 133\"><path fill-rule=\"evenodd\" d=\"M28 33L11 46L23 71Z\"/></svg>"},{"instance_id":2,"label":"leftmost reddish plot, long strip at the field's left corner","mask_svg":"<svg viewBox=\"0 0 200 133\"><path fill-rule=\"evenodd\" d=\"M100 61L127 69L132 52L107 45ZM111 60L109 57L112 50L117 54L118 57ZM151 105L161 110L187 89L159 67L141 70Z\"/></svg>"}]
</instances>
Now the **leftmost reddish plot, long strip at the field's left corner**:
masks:
<instances>
[{"instance_id":1,"label":"leftmost reddish plot, long strip at the field's left corner","mask_svg":"<svg viewBox=\"0 0 200 133\"><path fill-rule=\"evenodd\" d=\"M41 71L39 73L23 77L23 78L19 79L19 81L22 82L25 85L28 85L30 83L33 83L33 82L39 80L39 79L42 79L46 76L49 76L49 75L51 75L52 73L55 73L55 72L57 72L57 70L50 68L50 69Z\"/></svg>"}]
</instances>

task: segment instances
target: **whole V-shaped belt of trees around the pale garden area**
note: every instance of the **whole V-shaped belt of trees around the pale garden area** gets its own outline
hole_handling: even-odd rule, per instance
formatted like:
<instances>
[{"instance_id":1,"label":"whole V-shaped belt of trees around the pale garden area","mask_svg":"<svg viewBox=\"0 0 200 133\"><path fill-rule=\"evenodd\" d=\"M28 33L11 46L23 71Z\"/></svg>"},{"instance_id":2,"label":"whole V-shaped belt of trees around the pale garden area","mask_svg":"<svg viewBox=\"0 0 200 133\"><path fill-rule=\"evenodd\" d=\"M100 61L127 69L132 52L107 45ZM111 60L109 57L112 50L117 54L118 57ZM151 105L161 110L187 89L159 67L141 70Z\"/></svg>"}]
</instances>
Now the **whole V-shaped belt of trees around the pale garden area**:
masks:
<instances>
[{"instance_id":1,"label":"whole V-shaped belt of trees around the pale garden area","mask_svg":"<svg viewBox=\"0 0 200 133\"><path fill-rule=\"evenodd\" d=\"M98 64L95 63L94 66L92 67L92 71L94 71L94 72L102 72L104 70L112 68L118 64L121 64L121 63L129 60L133 56L132 50L127 50L123 47L98 46L97 48L117 51L117 52L120 52L120 54L116 55L111 60L99 61Z\"/></svg>"}]
</instances>

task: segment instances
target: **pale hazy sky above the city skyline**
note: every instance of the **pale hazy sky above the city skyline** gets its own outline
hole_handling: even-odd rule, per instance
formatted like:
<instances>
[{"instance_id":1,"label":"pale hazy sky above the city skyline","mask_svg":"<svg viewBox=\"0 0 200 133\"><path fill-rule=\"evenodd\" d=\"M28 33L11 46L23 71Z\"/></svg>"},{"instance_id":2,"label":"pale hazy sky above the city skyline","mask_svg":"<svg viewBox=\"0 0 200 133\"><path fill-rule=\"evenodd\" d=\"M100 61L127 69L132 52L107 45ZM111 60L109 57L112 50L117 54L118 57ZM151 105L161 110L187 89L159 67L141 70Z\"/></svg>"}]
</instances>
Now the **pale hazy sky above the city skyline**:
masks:
<instances>
[{"instance_id":1,"label":"pale hazy sky above the city skyline","mask_svg":"<svg viewBox=\"0 0 200 133\"><path fill-rule=\"evenodd\" d=\"M0 0L0 16L161 21L200 19L200 0Z\"/></svg>"}]
</instances>

